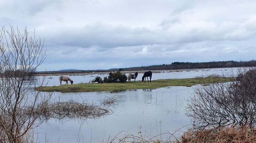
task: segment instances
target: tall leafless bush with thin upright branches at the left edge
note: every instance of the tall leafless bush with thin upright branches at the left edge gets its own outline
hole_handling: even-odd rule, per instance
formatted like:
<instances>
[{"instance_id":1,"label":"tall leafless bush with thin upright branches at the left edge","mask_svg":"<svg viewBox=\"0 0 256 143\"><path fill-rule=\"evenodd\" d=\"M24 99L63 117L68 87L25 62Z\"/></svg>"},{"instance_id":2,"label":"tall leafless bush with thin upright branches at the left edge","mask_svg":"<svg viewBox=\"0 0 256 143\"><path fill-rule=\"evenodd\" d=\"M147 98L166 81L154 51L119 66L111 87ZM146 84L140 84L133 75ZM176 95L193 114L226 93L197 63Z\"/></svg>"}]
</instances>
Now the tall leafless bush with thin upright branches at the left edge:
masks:
<instances>
[{"instance_id":1,"label":"tall leafless bush with thin upright branches at the left edge","mask_svg":"<svg viewBox=\"0 0 256 143\"><path fill-rule=\"evenodd\" d=\"M41 124L37 122L40 115L32 116L32 111L36 105L40 107L49 102L50 95L32 92L32 81L25 84L25 80L44 61L42 50L41 38L30 37L26 28L17 31L11 26L10 30L0 29L0 138L4 142L21 142L27 132ZM7 70L22 71L22 74L4 76ZM44 82L45 78L38 81L38 86L43 86ZM24 116L23 109L28 105L32 110Z\"/></svg>"}]
</instances>

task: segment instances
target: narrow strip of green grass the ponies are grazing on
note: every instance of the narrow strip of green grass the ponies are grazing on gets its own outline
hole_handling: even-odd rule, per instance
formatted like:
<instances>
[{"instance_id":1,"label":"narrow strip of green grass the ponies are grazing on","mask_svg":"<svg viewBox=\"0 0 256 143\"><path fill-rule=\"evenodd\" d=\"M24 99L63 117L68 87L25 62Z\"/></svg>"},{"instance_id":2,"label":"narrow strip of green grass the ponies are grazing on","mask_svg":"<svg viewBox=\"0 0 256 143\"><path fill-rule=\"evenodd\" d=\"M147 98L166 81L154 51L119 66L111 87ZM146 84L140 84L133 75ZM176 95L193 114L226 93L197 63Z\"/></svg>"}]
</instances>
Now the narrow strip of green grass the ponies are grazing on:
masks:
<instances>
[{"instance_id":1,"label":"narrow strip of green grass the ponies are grazing on","mask_svg":"<svg viewBox=\"0 0 256 143\"><path fill-rule=\"evenodd\" d=\"M168 86L193 86L196 84L207 85L216 82L229 82L232 78L207 77L207 78L183 78L183 79L159 79L151 82L126 82L126 83L80 83L62 86L36 87L35 90L46 92L90 92L90 91L119 91L128 89L156 89Z\"/></svg>"}]
</instances>

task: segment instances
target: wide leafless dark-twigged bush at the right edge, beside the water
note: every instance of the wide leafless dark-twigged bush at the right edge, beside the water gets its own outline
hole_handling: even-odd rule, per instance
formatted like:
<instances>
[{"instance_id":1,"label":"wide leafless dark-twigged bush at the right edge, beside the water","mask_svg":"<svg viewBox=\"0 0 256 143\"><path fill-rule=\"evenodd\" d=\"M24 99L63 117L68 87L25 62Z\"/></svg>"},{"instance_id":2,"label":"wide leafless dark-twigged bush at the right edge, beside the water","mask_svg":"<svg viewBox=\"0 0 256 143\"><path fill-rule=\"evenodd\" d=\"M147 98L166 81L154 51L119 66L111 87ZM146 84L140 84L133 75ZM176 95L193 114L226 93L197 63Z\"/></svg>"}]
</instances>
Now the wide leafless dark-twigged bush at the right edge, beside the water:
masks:
<instances>
[{"instance_id":1,"label":"wide leafless dark-twigged bush at the right edge, beside the water","mask_svg":"<svg viewBox=\"0 0 256 143\"><path fill-rule=\"evenodd\" d=\"M187 107L196 127L256 125L256 70L243 70L236 80L196 86Z\"/></svg>"}]
</instances>

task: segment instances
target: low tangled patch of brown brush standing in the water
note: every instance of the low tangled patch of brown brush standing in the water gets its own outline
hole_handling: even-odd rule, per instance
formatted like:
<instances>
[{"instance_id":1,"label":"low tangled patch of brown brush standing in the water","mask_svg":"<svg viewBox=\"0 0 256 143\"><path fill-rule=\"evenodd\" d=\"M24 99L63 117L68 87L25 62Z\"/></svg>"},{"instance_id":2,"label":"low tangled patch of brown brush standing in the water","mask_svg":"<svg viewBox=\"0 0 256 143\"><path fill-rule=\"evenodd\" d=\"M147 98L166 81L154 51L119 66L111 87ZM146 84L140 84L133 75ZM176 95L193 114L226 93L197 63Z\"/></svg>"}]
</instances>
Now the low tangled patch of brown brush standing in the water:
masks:
<instances>
[{"instance_id":1,"label":"low tangled patch of brown brush standing in the water","mask_svg":"<svg viewBox=\"0 0 256 143\"><path fill-rule=\"evenodd\" d=\"M42 107L37 106L34 109L33 107L27 107L25 113L31 113L31 110L33 110L33 116L40 115L40 118L43 119L98 118L110 114L110 110L74 100L44 104Z\"/></svg>"}]
</instances>

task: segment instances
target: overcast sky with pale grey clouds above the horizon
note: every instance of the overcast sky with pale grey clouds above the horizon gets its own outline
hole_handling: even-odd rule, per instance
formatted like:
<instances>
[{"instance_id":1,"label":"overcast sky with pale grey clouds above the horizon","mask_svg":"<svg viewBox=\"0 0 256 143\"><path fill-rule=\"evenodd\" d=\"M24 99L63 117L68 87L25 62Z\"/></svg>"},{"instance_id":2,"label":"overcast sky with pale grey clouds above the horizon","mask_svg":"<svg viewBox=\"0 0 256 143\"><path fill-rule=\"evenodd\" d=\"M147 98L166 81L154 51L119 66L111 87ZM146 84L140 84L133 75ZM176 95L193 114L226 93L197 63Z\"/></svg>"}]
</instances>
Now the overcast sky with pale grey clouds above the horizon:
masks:
<instances>
[{"instance_id":1,"label":"overcast sky with pale grey clouds above the horizon","mask_svg":"<svg viewBox=\"0 0 256 143\"><path fill-rule=\"evenodd\" d=\"M255 60L256 1L0 0L1 25L45 37L38 70Z\"/></svg>"}]
</instances>

